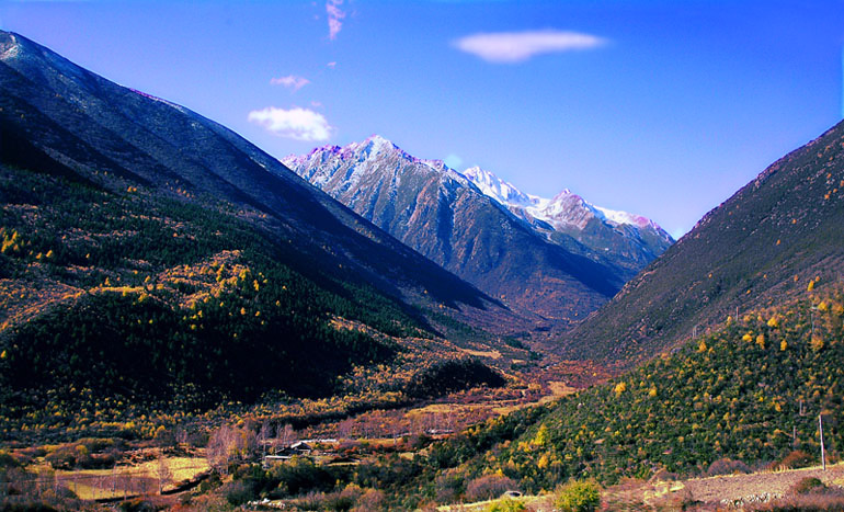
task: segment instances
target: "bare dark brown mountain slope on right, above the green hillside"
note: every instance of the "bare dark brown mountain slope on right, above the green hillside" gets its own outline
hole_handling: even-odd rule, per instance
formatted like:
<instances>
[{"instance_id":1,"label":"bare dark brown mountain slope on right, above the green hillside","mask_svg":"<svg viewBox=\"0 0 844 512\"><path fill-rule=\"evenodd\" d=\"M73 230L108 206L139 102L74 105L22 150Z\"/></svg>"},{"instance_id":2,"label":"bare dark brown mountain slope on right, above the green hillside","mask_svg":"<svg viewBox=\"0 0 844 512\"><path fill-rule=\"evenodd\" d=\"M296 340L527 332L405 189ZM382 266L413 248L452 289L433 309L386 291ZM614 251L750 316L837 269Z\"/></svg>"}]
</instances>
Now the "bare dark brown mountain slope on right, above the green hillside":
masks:
<instances>
[{"instance_id":1,"label":"bare dark brown mountain slope on right, above the green hillside","mask_svg":"<svg viewBox=\"0 0 844 512\"><path fill-rule=\"evenodd\" d=\"M737 311L841 280L842 240L837 124L709 212L562 344L571 356L632 364Z\"/></svg>"}]
</instances>

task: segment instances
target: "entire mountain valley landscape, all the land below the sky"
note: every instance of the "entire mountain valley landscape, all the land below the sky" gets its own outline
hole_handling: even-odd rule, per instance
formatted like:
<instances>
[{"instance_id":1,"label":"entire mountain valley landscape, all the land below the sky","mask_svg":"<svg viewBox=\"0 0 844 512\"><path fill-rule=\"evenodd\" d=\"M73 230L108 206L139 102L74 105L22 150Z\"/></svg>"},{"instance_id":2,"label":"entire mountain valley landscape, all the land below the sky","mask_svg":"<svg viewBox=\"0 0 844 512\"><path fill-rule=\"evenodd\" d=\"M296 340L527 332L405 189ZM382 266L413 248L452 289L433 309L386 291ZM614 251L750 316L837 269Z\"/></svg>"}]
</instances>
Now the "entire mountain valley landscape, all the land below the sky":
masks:
<instances>
[{"instance_id":1,"label":"entire mountain valley landscape, all the land below the sky","mask_svg":"<svg viewBox=\"0 0 844 512\"><path fill-rule=\"evenodd\" d=\"M0 510L844 503L844 123L674 242L2 31L0 91Z\"/></svg>"}]
</instances>

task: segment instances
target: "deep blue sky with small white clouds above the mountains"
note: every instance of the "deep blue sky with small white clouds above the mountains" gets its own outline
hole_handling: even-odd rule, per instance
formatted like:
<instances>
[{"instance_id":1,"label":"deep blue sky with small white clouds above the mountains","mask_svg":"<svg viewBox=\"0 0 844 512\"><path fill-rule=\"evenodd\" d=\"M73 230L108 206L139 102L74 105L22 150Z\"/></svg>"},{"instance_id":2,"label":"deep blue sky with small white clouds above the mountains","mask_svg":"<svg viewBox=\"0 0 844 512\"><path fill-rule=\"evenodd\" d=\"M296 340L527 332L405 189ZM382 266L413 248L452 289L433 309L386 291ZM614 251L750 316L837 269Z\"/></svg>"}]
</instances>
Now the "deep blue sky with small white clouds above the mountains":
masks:
<instances>
[{"instance_id":1,"label":"deep blue sky with small white clouds above the mountains","mask_svg":"<svg viewBox=\"0 0 844 512\"><path fill-rule=\"evenodd\" d=\"M278 158L379 134L675 237L842 117L844 0L0 0Z\"/></svg>"}]
</instances>

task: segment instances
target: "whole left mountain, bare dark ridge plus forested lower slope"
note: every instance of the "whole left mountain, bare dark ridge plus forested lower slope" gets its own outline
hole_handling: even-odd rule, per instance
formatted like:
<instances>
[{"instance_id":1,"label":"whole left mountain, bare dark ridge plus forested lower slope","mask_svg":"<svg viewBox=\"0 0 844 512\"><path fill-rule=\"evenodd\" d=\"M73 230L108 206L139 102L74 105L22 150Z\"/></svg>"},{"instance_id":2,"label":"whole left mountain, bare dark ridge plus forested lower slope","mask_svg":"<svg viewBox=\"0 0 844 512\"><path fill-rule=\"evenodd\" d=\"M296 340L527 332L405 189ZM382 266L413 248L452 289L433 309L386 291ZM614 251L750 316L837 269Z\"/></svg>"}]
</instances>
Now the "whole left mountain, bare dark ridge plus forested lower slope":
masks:
<instances>
[{"instance_id":1,"label":"whole left mountain, bare dark ridge plus forested lower slope","mask_svg":"<svg viewBox=\"0 0 844 512\"><path fill-rule=\"evenodd\" d=\"M450 317L518 326L185 107L7 32L0 91L0 418L324 396L408 340L456 351Z\"/></svg>"}]
</instances>

